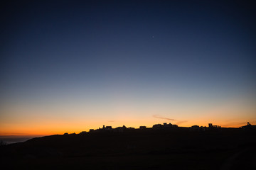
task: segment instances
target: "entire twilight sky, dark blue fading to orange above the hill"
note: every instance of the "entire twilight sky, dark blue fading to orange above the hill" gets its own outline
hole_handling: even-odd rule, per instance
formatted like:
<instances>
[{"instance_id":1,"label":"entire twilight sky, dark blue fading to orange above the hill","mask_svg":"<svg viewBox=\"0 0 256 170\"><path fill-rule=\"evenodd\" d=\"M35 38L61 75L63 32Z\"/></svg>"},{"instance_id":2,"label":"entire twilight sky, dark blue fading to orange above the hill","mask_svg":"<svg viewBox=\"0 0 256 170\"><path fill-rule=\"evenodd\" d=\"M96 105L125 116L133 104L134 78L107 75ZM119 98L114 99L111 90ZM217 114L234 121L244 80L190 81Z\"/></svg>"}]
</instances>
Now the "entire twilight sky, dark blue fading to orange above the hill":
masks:
<instances>
[{"instance_id":1,"label":"entire twilight sky, dark blue fading to orange above the hill","mask_svg":"<svg viewBox=\"0 0 256 170\"><path fill-rule=\"evenodd\" d=\"M0 135L256 124L252 1L6 1Z\"/></svg>"}]
</instances>

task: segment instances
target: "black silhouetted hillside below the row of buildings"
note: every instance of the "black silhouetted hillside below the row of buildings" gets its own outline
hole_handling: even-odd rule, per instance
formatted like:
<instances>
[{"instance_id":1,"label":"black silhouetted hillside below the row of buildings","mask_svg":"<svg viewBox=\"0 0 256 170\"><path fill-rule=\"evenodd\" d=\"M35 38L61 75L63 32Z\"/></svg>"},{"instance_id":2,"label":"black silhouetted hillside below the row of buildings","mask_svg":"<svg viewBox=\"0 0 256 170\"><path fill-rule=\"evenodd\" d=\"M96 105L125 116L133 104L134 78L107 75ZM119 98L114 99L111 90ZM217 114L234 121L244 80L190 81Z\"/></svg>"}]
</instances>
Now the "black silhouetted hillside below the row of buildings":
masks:
<instances>
[{"instance_id":1,"label":"black silhouetted hillside below the row of buildings","mask_svg":"<svg viewBox=\"0 0 256 170\"><path fill-rule=\"evenodd\" d=\"M256 169L256 132L126 130L53 135L0 147L4 169Z\"/></svg>"}]
</instances>

